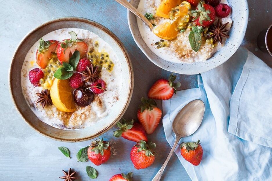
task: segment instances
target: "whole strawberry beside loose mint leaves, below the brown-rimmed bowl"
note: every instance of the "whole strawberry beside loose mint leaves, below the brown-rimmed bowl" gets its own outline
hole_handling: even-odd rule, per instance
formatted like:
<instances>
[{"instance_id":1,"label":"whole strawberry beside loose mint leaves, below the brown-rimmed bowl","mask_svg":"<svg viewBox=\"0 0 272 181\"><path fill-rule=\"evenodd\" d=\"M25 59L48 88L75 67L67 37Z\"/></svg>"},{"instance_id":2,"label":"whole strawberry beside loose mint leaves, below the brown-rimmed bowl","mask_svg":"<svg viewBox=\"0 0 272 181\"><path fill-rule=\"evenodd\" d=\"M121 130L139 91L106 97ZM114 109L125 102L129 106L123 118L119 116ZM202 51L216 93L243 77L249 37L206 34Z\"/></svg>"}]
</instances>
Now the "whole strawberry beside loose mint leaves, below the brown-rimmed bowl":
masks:
<instances>
[{"instance_id":1,"label":"whole strawberry beside loose mint leaves, below the brown-rimmed bowl","mask_svg":"<svg viewBox=\"0 0 272 181\"><path fill-rule=\"evenodd\" d=\"M111 147L109 142L106 142L98 138L92 141L91 146L88 149L88 158L95 165L101 165L109 160L111 156Z\"/></svg>"}]
</instances>

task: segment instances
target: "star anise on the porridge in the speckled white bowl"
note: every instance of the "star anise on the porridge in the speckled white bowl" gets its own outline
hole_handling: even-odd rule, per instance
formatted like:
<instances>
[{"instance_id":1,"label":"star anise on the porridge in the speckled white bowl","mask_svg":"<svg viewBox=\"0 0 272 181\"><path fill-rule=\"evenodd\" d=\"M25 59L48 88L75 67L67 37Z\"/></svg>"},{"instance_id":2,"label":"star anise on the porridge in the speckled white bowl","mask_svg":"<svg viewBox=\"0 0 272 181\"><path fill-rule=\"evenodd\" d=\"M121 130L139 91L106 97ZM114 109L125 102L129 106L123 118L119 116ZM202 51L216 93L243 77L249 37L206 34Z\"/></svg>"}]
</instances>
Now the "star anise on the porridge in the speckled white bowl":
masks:
<instances>
[{"instance_id":1,"label":"star anise on the porridge in the speckled white bowl","mask_svg":"<svg viewBox=\"0 0 272 181\"><path fill-rule=\"evenodd\" d=\"M228 22L229 23L229 22ZM213 41L216 42L217 40L221 43L221 45L223 44L223 39L222 37L226 37L229 38L229 36L227 34L225 34L225 32L228 32L226 28L226 26L228 25L228 23L225 23L224 25L221 24L220 20L218 20L216 25L212 25L209 29L209 31L212 33L211 35L207 36L207 38L211 38L213 37Z\"/></svg>"}]
</instances>

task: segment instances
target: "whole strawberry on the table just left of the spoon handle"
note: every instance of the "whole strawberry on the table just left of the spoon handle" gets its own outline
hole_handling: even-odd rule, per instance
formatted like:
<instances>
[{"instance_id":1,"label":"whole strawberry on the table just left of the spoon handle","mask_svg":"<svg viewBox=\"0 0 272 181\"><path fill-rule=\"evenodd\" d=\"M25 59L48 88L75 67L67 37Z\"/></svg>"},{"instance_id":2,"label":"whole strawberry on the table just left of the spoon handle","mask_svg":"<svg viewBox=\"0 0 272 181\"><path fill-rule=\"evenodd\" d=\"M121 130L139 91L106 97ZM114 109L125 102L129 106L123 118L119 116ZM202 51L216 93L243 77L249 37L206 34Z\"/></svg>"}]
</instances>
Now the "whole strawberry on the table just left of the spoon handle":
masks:
<instances>
[{"instance_id":1,"label":"whole strawberry on the table just left of the spoon handle","mask_svg":"<svg viewBox=\"0 0 272 181\"><path fill-rule=\"evenodd\" d=\"M155 161L154 148L156 148L155 143L146 143L143 140L132 147L130 159L136 169L145 169L153 164Z\"/></svg>"}]
</instances>

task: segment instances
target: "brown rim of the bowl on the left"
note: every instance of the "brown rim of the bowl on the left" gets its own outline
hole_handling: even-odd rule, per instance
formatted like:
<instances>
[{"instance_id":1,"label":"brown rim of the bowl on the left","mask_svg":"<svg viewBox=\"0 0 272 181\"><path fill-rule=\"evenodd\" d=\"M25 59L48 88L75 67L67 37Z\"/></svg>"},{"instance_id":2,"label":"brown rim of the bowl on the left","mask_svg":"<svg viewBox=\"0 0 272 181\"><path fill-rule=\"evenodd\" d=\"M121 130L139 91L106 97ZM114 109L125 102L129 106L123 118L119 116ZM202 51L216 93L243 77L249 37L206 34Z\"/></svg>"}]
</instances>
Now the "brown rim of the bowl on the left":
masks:
<instances>
[{"instance_id":1,"label":"brown rim of the bowl on the left","mask_svg":"<svg viewBox=\"0 0 272 181\"><path fill-rule=\"evenodd\" d=\"M87 136L87 137L84 137L84 138L73 138L73 139L57 138L55 136L51 136L50 134L46 134L46 133L38 130L36 127L34 127L27 120L27 118L25 118L23 116L23 114L21 113L21 110L20 110L19 106L15 102L15 97L14 97L13 92L12 92L12 83L11 83L11 81L12 81L12 75L11 75L12 67L13 67L14 62L15 62L15 56L16 56L19 48L22 46L23 42L30 35L32 35L35 31L39 30L40 28L43 28L46 25L49 25L51 23L60 22L60 21L81 21L81 22L84 22L84 23L89 23L89 24L91 24L93 26L96 26L97 28L99 28L100 30L104 31L105 33L107 33L109 36L111 36L111 38L114 39L114 41L121 48L122 52L125 55L125 58L126 58L126 61L127 61L127 65L128 65L128 68L129 68L129 77L130 77L130 85L129 85L129 87L130 87L130 89L129 89L129 93L128 93L128 97L127 97L124 109L120 112L120 114L118 115L118 117L109 126L105 127L104 129L102 129L101 131L99 131L98 133L96 133L94 135ZM26 123L30 127L32 127L35 131L37 131L38 133L42 134L43 136L45 136L47 138L51 138L53 140L63 141L63 142L82 142L82 141L86 141L86 140L90 140L90 139L96 138L96 137L104 134L105 132L109 131L109 129L111 129L114 125L116 125L116 123L120 120L120 118L122 118L122 116L124 115L125 111L127 110L128 106L129 106L129 103L130 103L130 100L132 98L132 93L133 93L133 89L134 89L134 73L133 73L132 62L131 62L131 59L129 58L129 54L128 54L127 50L125 49L125 46L123 45L123 43L120 41L120 39L118 39L118 37L113 32L111 32L105 26L101 25L100 23L97 23L96 21L93 21L93 20L90 20L90 19L87 19L87 18L82 18L82 17L58 17L58 18L55 18L55 19L52 19L52 20L48 20L48 21L42 23L41 25L37 26L36 28L33 28L32 30L30 30L22 38L22 40L19 42L18 46L16 47L15 52L14 52L14 54L12 56L12 61L11 61L10 66L9 66L8 74L9 74L9 76L8 76L9 92L10 92L13 104L15 105L15 108L17 109L17 111L19 112L19 114L21 115L21 117L26 121ZM21 87L21 85L20 85L20 87ZM67 131L70 131L70 130L67 130Z\"/></svg>"}]
</instances>

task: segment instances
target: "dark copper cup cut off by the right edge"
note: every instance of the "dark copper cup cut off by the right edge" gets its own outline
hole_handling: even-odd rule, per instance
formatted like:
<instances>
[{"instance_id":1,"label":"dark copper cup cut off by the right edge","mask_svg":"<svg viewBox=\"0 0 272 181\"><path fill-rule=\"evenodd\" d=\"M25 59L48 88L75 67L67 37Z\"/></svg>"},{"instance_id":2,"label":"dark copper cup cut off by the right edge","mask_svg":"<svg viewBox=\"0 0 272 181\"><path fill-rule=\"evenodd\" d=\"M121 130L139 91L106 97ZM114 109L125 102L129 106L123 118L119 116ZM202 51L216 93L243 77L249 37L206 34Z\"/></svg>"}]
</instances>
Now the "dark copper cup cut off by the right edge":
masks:
<instances>
[{"instance_id":1,"label":"dark copper cup cut off by the right edge","mask_svg":"<svg viewBox=\"0 0 272 181\"><path fill-rule=\"evenodd\" d=\"M272 56L272 53L271 53L272 52L272 46L271 46L272 38L271 37L272 37L272 25L270 25L268 29L263 30L259 34L257 38L257 45L262 52L269 53Z\"/></svg>"}]
</instances>

